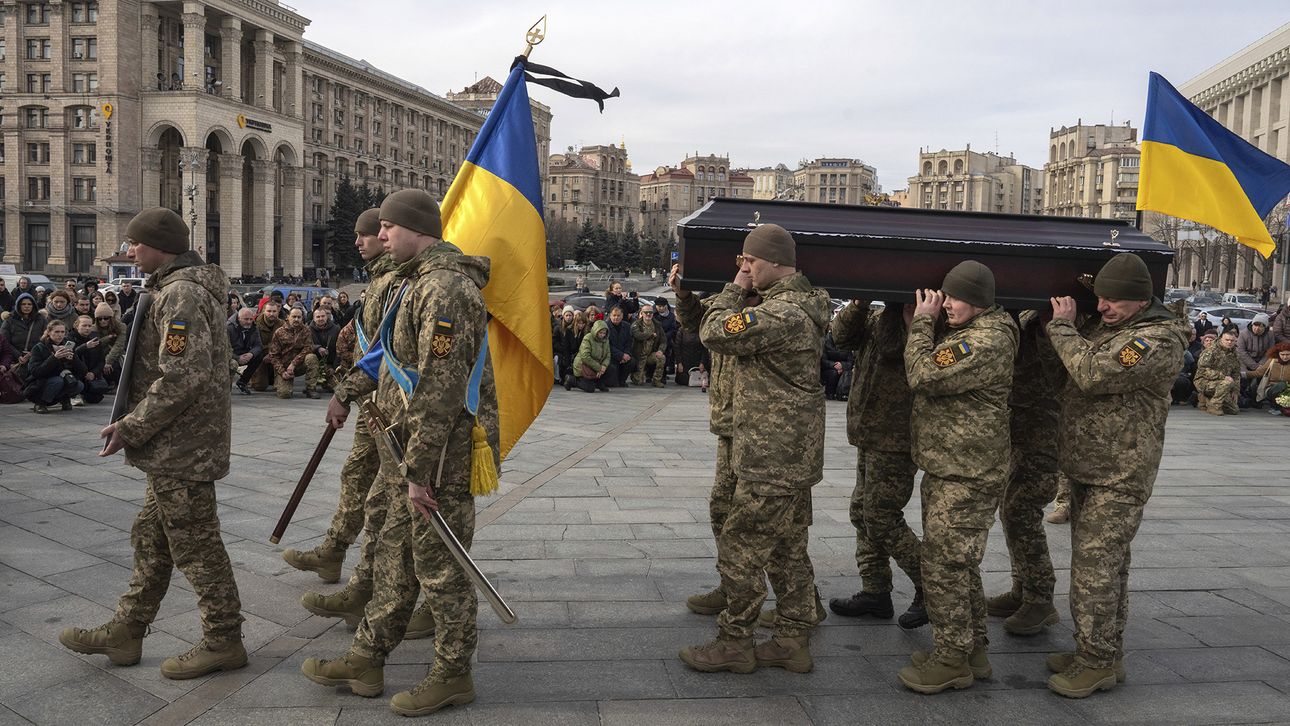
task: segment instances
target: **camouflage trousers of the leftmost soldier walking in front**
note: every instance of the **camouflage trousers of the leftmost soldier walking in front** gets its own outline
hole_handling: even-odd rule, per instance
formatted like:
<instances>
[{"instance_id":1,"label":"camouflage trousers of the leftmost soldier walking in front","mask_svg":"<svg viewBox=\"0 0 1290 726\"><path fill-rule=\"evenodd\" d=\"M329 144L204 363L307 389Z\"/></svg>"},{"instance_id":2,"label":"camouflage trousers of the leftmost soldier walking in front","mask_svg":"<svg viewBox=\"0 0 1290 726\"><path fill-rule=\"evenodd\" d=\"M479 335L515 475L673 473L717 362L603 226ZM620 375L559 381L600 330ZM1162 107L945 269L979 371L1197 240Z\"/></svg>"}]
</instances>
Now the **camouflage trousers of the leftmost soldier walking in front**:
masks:
<instances>
[{"instance_id":1,"label":"camouflage trousers of the leftmost soldier walking in front","mask_svg":"<svg viewBox=\"0 0 1290 726\"><path fill-rule=\"evenodd\" d=\"M197 594L206 641L241 640L241 600L219 538L215 482L148 475L143 509L130 527L130 545L134 573L114 620L146 629L170 587L170 573L178 567Z\"/></svg>"}]
</instances>

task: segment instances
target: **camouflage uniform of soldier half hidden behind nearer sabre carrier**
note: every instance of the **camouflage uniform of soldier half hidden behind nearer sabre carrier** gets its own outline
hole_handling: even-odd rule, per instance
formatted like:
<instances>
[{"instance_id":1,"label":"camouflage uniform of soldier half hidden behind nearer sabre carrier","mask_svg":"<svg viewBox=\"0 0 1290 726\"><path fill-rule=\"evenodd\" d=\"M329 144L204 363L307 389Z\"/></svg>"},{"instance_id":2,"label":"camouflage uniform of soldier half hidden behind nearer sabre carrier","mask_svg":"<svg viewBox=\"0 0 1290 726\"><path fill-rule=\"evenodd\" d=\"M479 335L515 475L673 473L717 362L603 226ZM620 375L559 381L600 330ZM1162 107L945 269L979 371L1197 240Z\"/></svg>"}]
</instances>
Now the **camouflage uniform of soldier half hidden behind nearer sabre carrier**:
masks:
<instances>
[{"instance_id":1,"label":"camouflage uniform of soldier half hidden behind nearer sabre carrier","mask_svg":"<svg viewBox=\"0 0 1290 726\"><path fill-rule=\"evenodd\" d=\"M370 275L368 294L360 308L360 317L355 317L351 325L361 322L362 331L368 335L369 346L375 340L381 328L386 295L393 282L397 281L393 268L393 262L386 254L368 263L368 273ZM350 325L346 328L350 328ZM337 344L339 346L339 342ZM361 358L366 352L357 349L356 338L355 347L350 349L353 351L355 360ZM362 370L351 368L337 382L334 396L342 404L351 405L372 395L375 389L377 382L370 375ZM353 427L353 446L350 449L350 456L344 460L344 466L341 467L341 502L335 508L335 515L332 517L332 526L326 531L322 547L343 551L353 544L353 540L359 536L359 530L364 529L365 518L384 516L384 507L381 505L379 496L377 502L373 502L372 507L364 505L369 494L375 489L372 486L372 482L375 481L379 468L381 456L377 454L372 433L368 432L368 422L362 417L359 417ZM350 579L351 585L357 585L364 591L372 588L372 554L375 549L375 535L381 531L381 521L373 520L368 522L366 530L368 539L362 545L362 556L359 558L359 565Z\"/></svg>"}]
</instances>

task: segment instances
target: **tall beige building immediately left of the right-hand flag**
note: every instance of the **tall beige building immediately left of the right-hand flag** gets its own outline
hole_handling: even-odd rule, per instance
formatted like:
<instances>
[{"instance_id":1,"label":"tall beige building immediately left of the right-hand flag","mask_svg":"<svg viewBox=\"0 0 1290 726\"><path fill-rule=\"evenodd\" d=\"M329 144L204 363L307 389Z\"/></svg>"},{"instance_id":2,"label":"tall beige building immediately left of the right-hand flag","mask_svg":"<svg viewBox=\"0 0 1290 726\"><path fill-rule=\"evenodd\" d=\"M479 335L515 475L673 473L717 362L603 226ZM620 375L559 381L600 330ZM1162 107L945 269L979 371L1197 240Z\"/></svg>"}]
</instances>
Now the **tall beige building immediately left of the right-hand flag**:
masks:
<instances>
[{"instance_id":1,"label":"tall beige building immediately left of the right-hand flag","mask_svg":"<svg viewBox=\"0 0 1290 726\"><path fill-rule=\"evenodd\" d=\"M1142 152L1138 129L1086 125L1049 129L1044 214L1134 219Z\"/></svg>"}]
</instances>

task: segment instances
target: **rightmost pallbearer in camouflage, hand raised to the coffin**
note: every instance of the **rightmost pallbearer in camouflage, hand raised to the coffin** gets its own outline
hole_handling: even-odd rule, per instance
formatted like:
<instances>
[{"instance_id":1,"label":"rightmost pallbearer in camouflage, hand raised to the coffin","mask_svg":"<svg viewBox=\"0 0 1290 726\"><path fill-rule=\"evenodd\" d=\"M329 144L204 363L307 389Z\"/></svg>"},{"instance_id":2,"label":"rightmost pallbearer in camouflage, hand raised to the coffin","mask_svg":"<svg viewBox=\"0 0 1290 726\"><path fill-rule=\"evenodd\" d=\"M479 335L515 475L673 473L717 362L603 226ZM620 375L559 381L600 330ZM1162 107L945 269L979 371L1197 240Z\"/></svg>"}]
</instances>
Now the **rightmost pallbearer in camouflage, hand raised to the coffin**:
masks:
<instances>
[{"instance_id":1,"label":"rightmost pallbearer in camouflage, hand raised to the coffin","mask_svg":"<svg viewBox=\"0 0 1290 726\"><path fill-rule=\"evenodd\" d=\"M1183 368L1187 321L1152 298L1147 263L1120 253L1093 282L1100 321L1075 326L1075 300L1053 299L1049 339L1071 374L1060 462L1071 484L1075 652L1047 658L1049 689L1085 698L1124 681L1129 545L1165 447L1169 391Z\"/></svg>"}]
</instances>

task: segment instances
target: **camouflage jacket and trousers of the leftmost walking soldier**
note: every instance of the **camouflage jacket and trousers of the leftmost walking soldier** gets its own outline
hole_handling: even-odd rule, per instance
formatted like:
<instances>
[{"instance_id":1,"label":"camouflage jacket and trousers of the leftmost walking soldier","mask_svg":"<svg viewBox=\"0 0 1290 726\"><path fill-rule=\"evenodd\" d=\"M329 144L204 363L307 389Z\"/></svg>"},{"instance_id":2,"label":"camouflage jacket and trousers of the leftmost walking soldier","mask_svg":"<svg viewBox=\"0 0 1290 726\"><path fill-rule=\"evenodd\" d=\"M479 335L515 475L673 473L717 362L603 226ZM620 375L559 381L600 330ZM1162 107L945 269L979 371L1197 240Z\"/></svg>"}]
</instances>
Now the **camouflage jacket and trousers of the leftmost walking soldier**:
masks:
<instances>
[{"instance_id":1,"label":"camouflage jacket and trousers of the leftmost walking soldier","mask_svg":"<svg viewBox=\"0 0 1290 726\"><path fill-rule=\"evenodd\" d=\"M126 463L148 475L148 489L130 529L134 573L114 620L142 633L178 567L197 594L206 642L236 642L241 601L215 515L215 480L228 473L232 435L228 277L187 251L146 288L152 303L139 328L129 413L116 428Z\"/></svg>"}]
</instances>

